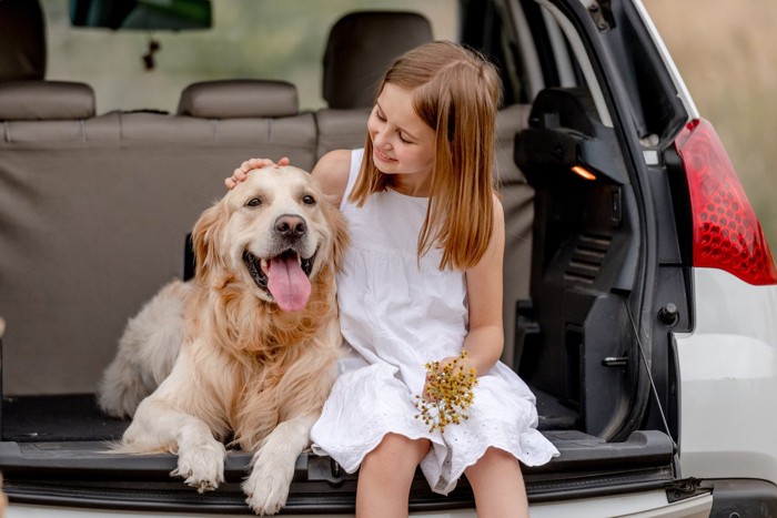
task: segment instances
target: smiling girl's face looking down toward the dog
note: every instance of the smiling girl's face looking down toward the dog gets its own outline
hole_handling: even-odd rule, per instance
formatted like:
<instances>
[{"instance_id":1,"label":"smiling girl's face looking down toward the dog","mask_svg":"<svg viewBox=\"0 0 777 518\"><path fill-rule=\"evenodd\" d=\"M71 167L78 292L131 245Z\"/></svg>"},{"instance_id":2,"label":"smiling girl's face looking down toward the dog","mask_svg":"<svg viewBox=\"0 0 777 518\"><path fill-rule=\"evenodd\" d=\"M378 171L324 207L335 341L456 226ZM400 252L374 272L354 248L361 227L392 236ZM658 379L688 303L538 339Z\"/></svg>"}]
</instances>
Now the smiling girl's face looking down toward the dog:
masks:
<instances>
[{"instance_id":1,"label":"smiling girl's face looking down toward the dog","mask_svg":"<svg viewBox=\"0 0 777 518\"><path fill-rule=\"evenodd\" d=\"M435 134L412 105L413 92L386 83L367 121L372 160L394 177L395 189L411 195L428 195L435 156Z\"/></svg>"}]
</instances>

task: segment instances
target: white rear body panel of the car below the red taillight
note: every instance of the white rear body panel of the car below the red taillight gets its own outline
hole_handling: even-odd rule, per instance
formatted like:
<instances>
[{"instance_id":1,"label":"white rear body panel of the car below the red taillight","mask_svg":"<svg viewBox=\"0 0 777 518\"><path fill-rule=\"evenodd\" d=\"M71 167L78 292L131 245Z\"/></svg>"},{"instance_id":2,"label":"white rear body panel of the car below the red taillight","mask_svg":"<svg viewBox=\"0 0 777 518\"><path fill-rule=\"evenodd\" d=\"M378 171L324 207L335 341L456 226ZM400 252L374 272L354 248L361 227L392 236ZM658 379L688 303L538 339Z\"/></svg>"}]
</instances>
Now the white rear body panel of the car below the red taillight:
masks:
<instances>
[{"instance_id":1,"label":"white rear body panel of the car below the red taillight","mask_svg":"<svg viewBox=\"0 0 777 518\"><path fill-rule=\"evenodd\" d=\"M677 334L684 476L777 483L777 286L694 268L693 333Z\"/></svg>"}]
</instances>

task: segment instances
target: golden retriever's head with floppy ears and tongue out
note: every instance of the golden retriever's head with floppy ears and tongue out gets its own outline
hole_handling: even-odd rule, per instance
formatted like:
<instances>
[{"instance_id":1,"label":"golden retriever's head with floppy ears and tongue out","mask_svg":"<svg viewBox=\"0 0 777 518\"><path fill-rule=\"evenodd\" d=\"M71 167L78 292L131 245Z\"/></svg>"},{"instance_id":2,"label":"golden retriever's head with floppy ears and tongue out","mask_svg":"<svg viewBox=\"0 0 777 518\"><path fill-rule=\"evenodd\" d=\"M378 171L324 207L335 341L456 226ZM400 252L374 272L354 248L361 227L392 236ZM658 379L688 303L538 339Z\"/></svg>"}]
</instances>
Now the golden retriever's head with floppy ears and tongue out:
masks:
<instances>
[{"instance_id":1,"label":"golden retriever's head with floppy ears and tongue out","mask_svg":"<svg viewBox=\"0 0 777 518\"><path fill-rule=\"evenodd\" d=\"M249 173L206 210L192 233L196 277L234 276L258 298L286 312L302 309L311 280L340 264L345 222L317 182L292 166Z\"/></svg>"}]
</instances>

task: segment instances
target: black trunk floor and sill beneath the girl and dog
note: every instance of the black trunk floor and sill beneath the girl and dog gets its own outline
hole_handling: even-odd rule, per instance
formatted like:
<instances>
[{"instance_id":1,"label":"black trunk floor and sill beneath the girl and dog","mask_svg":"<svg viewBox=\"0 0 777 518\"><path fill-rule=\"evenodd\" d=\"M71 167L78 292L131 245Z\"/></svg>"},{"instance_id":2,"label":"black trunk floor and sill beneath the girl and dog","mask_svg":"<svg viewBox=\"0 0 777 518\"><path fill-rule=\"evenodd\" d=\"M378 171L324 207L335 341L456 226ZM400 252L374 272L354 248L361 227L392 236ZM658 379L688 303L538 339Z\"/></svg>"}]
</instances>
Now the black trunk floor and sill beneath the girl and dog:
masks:
<instances>
[{"instance_id":1,"label":"black trunk floor and sill beneath the girl and dog","mask_svg":"<svg viewBox=\"0 0 777 518\"><path fill-rule=\"evenodd\" d=\"M576 420L576 413L552 396L537 396L537 408L545 414L541 427ZM3 489L13 501L147 512L246 511L240 484L250 469L251 453L230 450L224 460L226 483L200 496L170 477L176 466L173 455L107 455L110 441L119 439L130 421L103 415L92 394L8 397L1 417L0 467ZM592 491L657 489L673 480L675 445L660 431L635 431L622 443L607 443L576 429L544 433L561 456L543 466L523 468L533 501L579 498ZM416 483L411 492L413 510L472 506L464 483L447 498L432 495L420 473ZM303 453L295 463L286 510L353 512L355 487L355 475L344 474L329 457Z\"/></svg>"}]
</instances>

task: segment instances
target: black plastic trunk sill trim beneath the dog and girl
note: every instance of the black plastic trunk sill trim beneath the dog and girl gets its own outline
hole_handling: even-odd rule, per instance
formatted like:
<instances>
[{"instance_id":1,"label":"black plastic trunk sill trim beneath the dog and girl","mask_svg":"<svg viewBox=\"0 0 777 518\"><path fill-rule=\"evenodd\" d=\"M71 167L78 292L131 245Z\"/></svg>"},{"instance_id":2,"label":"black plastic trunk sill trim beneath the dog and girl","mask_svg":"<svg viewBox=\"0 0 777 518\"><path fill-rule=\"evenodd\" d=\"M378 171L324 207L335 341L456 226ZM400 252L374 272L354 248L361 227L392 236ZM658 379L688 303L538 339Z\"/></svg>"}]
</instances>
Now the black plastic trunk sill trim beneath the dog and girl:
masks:
<instances>
[{"instance_id":1,"label":"black plastic trunk sill trim beneath the dog and girl","mask_svg":"<svg viewBox=\"0 0 777 518\"><path fill-rule=\"evenodd\" d=\"M548 431L561 457L538 467L523 467L531 501L556 501L663 488L672 484L673 443L663 433L633 434L624 443L606 443L581 431ZM179 479L173 455L111 454L105 443L0 443L0 469L11 501L43 506L245 512L240 484L251 455L231 451L219 489L199 495ZM286 512L353 512L356 476L337 471L326 457L297 459ZM411 509L472 508L462 480L447 497L432 494L421 473L411 491Z\"/></svg>"}]
</instances>

